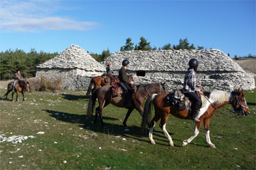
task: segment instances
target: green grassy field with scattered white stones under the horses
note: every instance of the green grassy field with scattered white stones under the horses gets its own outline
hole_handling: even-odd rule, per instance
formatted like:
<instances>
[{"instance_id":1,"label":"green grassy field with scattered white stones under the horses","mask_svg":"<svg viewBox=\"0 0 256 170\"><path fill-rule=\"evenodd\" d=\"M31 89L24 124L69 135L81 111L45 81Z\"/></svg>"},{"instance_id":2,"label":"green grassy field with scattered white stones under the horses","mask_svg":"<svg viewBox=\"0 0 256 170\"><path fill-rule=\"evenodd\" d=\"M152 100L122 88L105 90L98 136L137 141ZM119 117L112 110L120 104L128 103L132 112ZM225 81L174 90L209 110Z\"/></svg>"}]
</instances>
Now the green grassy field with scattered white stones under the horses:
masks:
<instances>
[{"instance_id":1,"label":"green grassy field with scattered white stones under the horses","mask_svg":"<svg viewBox=\"0 0 256 170\"><path fill-rule=\"evenodd\" d=\"M89 99L83 91L26 93L24 103L21 95L18 102L1 99L0 169L255 169L255 92L244 92L249 116L234 118L217 111L211 119L216 149L206 143L204 129L182 147L195 124L173 116L167 131L174 147L159 126L156 145L150 144L147 132L141 133L137 111L128 119L129 129L122 126L127 110L113 105L103 112L107 128L99 121L93 125L94 116L86 116ZM4 93L0 89L1 97Z\"/></svg>"}]
</instances>

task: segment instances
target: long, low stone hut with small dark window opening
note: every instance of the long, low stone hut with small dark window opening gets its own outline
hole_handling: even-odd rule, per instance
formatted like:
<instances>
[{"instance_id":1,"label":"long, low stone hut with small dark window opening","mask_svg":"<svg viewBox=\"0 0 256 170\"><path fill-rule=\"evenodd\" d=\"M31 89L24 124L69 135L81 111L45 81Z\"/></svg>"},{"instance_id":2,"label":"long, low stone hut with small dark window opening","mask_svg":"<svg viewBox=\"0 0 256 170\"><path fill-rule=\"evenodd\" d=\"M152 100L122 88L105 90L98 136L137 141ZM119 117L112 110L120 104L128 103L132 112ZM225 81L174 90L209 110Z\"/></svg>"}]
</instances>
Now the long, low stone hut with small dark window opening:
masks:
<instances>
[{"instance_id":1,"label":"long, low stone hut with small dark window opening","mask_svg":"<svg viewBox=\"0 0 256 170\"><path fill-rule=\"evenodd\" d=\"M106 58L102 65L112 62L115 74L128 59L127 71L135 84L166 82L167 91L182 88L188 61L197 58L199 68L197 82L203 90L234 90L255 88L253 75L246 72L221 50L150 50L116 52Z\"/></svg>"}]
</instances>

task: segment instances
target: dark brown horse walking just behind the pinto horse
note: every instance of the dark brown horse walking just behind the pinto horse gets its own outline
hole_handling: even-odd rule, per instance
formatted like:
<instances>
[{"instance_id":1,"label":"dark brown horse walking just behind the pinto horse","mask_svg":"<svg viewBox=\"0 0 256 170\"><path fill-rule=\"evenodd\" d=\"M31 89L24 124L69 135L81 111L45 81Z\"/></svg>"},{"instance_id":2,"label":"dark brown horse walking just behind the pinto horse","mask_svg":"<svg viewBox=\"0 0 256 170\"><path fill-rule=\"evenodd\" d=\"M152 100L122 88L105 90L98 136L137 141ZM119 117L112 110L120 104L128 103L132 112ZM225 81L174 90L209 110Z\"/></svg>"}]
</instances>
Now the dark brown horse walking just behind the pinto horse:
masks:
<instances>
[{"instance_id":1,"label":"dark brown horse walking just behind the pinto horse","mask_svg":"<svg viewBox=\"0 0 256 170\"><path fill-rule=\"evenodd\" d=\"M128 109L126 114L126 118L124 119L124 126L127 127L126 121L132 113L133 109L137 109L141 116L143 116L143 103L147 97L149 97L153 93L164 92L165 91L165 83L164 84L142 84L136 86L136 92L132 94L132 107ZM94 118L94 124L96 124L98 119L98 114L100 116L100 122L102 126L105 126L102 120L102 109L109 105L115 105L117 107L125 107L125 97L122 95L121 97L112 97L111 86L103 86L96 89L95 92L91 95L91 99L89 100L88 108L87 108L87 116L91 116L94 113L94 106L96 103L96 99L98 99L99 106L96 108L96 116Z\"/></svg>"}]
</instances>

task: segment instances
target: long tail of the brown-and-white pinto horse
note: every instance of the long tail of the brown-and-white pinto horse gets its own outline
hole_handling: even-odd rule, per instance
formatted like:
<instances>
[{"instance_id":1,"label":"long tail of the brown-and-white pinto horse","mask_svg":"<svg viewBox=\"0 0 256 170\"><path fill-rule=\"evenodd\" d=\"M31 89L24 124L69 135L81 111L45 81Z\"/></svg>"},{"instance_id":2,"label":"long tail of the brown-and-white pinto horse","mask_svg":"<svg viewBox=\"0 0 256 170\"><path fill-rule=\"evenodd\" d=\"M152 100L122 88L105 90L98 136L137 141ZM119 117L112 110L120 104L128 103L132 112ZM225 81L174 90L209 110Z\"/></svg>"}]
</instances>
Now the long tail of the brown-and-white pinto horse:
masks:
<instances>
[{"instance_id":1,"label":"long tail of the brown-and-white pinto horse","mask_svg":"<svg viewBox=\"0 0 256 170\"><path fill-rule=\"evenodd\" d=\"M142 120L142 123L141 123L141 130L144 131L146 126L149 125L150 121L151 121L151 116L152 116L152 107L151 107L151 103L153 101L153 99L156 97L157 94L153 94L153 95L150 95L148 98L147 98L147 101L145 102L145 105L144 105L144 111L143 111L143 120Z\"/></svg>"}]
</instances>

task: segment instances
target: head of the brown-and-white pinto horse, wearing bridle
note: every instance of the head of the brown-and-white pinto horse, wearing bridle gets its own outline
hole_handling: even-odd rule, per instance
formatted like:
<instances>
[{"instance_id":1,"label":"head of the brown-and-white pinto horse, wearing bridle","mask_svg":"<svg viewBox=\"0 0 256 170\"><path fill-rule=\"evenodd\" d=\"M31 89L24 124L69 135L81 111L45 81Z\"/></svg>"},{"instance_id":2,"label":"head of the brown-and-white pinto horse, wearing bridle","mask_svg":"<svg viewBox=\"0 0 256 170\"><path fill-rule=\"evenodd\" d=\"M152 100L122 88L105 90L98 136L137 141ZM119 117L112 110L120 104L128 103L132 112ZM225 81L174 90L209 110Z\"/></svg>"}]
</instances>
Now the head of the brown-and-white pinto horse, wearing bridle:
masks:
<instances>
[{"instance_id":1,"label":"head of the brown-and-white pinto horse, wearing bridle","mask_svg":"<svg viewBox=\"0 0 256 170\"><path fill-rule=\"evenodd\" d=\"M250 112L242 92L243 90L240 88L237 91L231 92L231 105L236 112L247 116Z\"/></svg>"}]
</instances>

